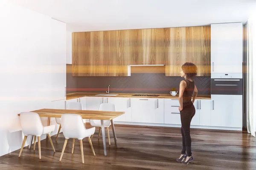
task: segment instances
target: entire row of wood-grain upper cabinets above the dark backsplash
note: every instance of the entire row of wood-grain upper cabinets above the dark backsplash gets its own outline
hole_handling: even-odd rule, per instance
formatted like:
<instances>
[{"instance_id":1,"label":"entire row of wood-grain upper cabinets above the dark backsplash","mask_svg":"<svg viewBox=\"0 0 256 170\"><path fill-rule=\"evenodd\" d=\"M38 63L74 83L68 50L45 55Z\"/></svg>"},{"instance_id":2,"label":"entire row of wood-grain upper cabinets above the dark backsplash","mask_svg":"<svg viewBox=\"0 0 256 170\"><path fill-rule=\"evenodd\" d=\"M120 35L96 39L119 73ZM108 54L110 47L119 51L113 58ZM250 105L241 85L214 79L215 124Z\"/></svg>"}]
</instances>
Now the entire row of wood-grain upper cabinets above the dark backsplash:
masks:
<instances>
[{"instance_id":1,"label":"entire row of wood-grain upper cabinets above the dark backsplash","mask_svg":"<svg viewBox=\"0 0 256 170\"><path fill-rule=\"evenodd\" d=\"M72 34L73 76L130 76L128 65L166 65L166 76L179 76L185 62L210 76L210 26Z\"/></svg>"}]
</instances>

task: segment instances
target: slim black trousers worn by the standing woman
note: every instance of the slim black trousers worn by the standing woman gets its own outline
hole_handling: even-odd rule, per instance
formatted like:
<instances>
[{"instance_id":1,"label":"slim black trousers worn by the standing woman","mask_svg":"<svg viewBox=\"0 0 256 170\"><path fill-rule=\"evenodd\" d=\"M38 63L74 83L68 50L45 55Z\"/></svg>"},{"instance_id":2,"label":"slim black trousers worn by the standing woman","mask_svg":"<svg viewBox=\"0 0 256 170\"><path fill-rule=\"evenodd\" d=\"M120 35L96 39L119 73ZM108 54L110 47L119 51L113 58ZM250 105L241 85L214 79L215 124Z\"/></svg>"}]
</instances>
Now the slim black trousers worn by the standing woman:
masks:
<instances>
[{"instance_id":1,"label":"slim black trousers worn by the standing woman","mask_svg":"<svg viewBox=\"0 0 256 170\"><path fill-rule=\"evenodd\" d=\"M182 135L182 151L181 154L186 154L187 156L192 156L191 152L191 137L190 137L190 123L195 115L194 105L185 106L182 111L180 111L181 120L181 135Z\"/></svg>"}]
</instances>

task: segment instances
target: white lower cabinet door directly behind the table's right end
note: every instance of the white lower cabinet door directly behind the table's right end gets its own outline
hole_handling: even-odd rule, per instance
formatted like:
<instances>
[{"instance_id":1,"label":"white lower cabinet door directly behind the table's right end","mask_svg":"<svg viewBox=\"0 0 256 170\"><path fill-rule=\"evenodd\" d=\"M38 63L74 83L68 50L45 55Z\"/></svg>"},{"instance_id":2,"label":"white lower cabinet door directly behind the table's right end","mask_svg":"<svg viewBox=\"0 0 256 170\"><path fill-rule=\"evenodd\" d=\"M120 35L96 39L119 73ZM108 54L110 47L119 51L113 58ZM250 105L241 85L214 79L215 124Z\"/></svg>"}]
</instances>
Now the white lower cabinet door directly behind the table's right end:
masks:
<instances>
[{"instance_id":1,"label":"white lower cabinet door directly behind the table's right end","mask_svg":"<svg viewBox=\"0 0 256 170\"><path fill-rule=\"evenodd\" d=\"M124 111L125 114L114 119L117 122L131 122L131 98L125 97L108 97L107 103L113 103L116 111Z\"/></svg>"}]
</instances>

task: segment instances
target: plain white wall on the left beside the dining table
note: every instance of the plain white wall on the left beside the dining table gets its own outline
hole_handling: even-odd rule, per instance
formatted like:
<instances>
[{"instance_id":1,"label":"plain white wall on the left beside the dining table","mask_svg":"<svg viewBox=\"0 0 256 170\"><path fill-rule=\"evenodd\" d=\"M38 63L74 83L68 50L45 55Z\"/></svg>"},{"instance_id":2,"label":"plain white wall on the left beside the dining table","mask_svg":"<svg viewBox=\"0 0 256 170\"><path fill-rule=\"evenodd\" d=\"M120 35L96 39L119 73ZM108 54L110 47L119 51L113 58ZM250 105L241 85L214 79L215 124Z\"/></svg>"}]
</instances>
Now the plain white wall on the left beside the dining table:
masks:
<instances>
[{"instance_id":1,"label":"plain white wall on the left beside the dining table","mask_svg":"<svg viewBox=\"0 0 256 170\"><path fill-rule=\"evenodd\" d=\"M2 156L21 147L17 114L51 107L51 18L1 0L0 21Z\"/></svg>"}]
</instances>

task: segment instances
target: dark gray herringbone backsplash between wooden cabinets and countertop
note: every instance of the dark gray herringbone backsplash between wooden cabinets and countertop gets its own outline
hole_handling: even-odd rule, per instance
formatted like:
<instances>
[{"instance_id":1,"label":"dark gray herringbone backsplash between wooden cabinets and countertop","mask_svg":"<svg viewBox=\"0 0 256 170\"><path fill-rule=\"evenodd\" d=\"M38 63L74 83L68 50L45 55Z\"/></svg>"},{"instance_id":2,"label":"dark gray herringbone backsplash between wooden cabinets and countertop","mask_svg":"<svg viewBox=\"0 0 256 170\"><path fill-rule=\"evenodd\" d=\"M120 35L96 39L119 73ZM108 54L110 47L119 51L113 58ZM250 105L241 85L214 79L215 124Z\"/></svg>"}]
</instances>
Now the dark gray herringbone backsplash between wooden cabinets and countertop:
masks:
<instances>
[{"instance_id":1,"label":"dark gray herringbone backsplash between wooden cabinets and countertop","mask_svg":"<svg viewBox=\"0 0 256 170\"><path fill-rule=\"evenodd\" d=\"M130 77L72 77L67 73L67 93L102 92L169 94L179 90L181 77L166 77L162 73L133 73ZM195 77L198 94L211 94L211 77Z\"/></svg>"}]
</instances>

